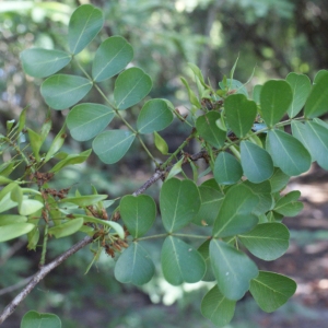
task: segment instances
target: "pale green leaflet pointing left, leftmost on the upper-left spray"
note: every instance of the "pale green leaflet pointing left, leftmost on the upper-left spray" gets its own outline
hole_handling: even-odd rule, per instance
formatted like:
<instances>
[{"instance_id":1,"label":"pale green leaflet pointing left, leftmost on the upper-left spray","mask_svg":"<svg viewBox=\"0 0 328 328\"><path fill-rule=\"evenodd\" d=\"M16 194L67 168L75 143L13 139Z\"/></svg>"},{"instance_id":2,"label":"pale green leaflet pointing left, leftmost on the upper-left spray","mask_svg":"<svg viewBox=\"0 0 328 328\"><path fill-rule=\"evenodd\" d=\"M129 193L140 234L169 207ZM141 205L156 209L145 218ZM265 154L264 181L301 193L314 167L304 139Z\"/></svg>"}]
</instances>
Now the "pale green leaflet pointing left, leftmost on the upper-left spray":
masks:
<instances>
[{"instance_id":1,"label":"pale green leaflet pointing left, leftmost on the upper-left spray","mask_svg":"<svg viewBox=\"0 0 328 328\"><path fill-rule=\"evenodd\" d=\"M21 61L25 73L35 78L55 74L66 67L71 59L71 55L65 51L43 48L32 48L21 52Z\"/></svg>"}]
</instances>

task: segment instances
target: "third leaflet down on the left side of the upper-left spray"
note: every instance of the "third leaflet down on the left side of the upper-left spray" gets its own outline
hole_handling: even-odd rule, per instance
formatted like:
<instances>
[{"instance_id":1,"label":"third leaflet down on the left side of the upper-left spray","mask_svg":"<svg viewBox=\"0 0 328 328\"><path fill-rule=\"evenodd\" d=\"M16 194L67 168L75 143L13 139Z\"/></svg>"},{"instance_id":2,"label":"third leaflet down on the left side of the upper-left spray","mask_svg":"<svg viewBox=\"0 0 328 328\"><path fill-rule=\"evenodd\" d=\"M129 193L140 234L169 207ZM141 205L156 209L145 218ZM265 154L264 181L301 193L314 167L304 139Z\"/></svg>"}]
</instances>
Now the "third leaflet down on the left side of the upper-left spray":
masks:
<instances>
[{"instance_id":1,"label":"third leaflet down on the left side of the upper-left spray","mask_svg":"<svg viewBox=\"0 0 328 328\"><path fill-rule=\"evenodd\" d=\"M115 112L99 104L79 104L67 116L67 126L78 141L86 141L103 131L113 120Z\"/></svg>"}]
</instances>

